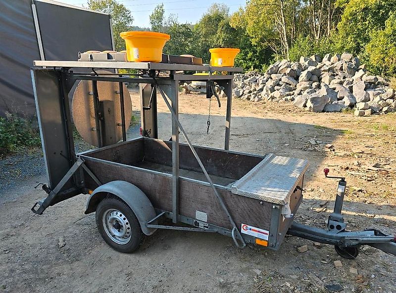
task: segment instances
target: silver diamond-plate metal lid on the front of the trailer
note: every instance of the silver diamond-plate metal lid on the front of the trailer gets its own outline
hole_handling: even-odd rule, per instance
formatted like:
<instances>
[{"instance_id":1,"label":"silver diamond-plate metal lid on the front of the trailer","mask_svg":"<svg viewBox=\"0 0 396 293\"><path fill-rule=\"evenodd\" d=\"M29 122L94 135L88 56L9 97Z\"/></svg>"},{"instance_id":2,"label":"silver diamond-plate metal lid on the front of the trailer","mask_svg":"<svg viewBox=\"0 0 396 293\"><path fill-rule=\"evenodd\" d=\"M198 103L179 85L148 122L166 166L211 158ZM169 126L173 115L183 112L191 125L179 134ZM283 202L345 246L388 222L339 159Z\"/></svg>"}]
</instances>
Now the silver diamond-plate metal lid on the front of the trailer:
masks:
<instances>
[{"instance_id":1,"label":"silver diamond-plate metal lid on the front of the trailer","mask_svg":"<svg viewBox=\"0 0 396 293\"><path fill-rule=\"evenodd\" d=\"M306 160L268 154L231 186L231 192L285 205L307 168Z\"/></svg>"}]
</instances>

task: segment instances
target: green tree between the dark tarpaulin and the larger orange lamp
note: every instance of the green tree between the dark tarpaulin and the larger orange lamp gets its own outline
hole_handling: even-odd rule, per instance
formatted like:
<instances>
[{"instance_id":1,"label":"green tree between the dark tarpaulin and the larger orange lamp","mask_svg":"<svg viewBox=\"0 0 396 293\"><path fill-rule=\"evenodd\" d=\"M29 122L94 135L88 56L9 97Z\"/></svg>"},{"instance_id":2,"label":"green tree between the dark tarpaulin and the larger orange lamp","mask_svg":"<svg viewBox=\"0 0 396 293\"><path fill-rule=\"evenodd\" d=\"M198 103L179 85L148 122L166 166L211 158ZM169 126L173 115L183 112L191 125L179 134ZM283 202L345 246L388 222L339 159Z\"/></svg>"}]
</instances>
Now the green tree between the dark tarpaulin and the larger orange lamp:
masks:
<instances>
[{"instance_id":1,"label":"green tree between the dark tarpaulin and the larger orange lamp","mask_svg":"<svg viewBox=\"0 0 396 293\"><path fill-rule=\"evenodd\" d=\"M121 39L120 33L130 30L133 22L131 11L116 0L88 0L88 8L111 15L115 49L125 50L125 41Z\"/></svg>"}]
</instances>

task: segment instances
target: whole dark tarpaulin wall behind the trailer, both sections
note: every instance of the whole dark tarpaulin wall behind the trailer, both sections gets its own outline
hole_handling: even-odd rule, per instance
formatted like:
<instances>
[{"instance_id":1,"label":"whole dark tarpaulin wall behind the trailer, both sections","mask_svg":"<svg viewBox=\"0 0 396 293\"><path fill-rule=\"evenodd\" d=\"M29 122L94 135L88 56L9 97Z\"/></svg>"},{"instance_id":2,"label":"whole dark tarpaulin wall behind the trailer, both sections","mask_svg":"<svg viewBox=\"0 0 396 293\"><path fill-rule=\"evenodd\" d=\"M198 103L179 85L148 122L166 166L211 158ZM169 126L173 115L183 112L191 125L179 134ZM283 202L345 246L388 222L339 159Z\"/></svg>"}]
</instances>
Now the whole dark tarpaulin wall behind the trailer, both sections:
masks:
<instances>
[{"instance_id":1,"label":"whole dark tarpaulin wall behind the trailer, both sections","mask_svg":"<svg viewBox=\"0 0 396 293\"><path fill-rule=\"evenodd\" d=\"M79 51L112 49L108 14L50 0L0 0L0 116L36 113L30 67L41 57L33 2L45 60L77 60Z\"/></svg>"}]
</instances>

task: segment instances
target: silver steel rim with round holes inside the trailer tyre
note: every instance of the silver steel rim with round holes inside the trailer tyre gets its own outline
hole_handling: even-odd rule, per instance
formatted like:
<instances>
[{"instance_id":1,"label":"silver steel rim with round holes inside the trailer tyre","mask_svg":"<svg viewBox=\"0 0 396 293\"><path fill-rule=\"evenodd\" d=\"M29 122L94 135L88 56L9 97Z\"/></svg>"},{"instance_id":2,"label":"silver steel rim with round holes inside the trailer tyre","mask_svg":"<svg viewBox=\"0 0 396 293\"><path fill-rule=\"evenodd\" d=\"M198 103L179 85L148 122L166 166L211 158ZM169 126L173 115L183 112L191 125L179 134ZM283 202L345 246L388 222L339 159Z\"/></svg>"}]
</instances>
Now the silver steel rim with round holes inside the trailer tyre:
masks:
<instances>
[{"instance_id":1,"label":"silver steel rim with round holes inside the trailer tyre","mask_svg":"<svg viewBox=\"0 0 396 293\"><path fill-rule=\"evenodd\" d=\"M124 213L118 209L107 209L102 217L104 231L111 241L125 245L132 238L131 224Z\"/></svg>"}]
</instances>

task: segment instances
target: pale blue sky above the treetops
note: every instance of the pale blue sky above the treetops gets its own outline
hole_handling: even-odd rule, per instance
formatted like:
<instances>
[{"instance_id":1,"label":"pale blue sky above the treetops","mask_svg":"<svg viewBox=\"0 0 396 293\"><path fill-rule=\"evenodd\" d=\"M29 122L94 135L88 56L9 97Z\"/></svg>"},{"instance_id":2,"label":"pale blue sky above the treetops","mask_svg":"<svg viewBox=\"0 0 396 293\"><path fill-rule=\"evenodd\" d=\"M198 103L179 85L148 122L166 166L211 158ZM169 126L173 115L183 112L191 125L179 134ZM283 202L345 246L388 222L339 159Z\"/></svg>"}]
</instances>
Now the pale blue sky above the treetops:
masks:
<instances>
[{"instance_id":1,"label":"pale blue sky above the treetops","mask_svg":"<svg viewBox=\"0 0 396 293\"><path fill-rule=\"evenodd\" d=\"M76 6L87 6L86 0L57 0ZM134 22L139 27L150 27L148 16L157 4L163 3L165 14L176 14L180 23L197 23L201 15L212 3L224 3L230 7L230 13L244 6L246 0L118 0L131 10Z\"/></svg>"}]
</instances>

